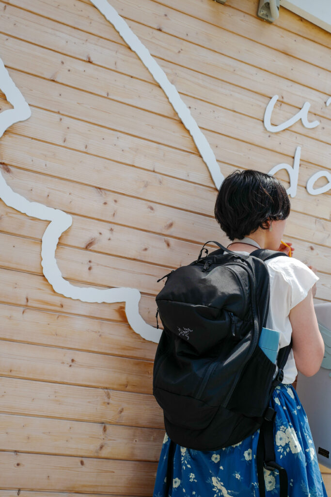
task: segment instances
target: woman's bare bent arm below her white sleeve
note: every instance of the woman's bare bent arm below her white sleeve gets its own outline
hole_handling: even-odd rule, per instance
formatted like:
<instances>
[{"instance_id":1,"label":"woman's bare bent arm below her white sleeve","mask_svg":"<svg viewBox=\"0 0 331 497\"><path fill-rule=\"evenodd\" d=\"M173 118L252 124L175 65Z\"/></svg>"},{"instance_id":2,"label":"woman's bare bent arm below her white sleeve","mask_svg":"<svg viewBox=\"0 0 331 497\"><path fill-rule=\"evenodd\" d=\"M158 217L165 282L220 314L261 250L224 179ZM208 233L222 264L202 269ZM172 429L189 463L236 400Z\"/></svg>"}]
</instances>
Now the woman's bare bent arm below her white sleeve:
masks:
<instances>
[{"instance_id":1,"label":"woman's bare bent arm below her white sleeve","mask_svg":"<svg viewBox=\"0 0 331 497\"><path fill-rule=\"evenodd\" d=\"M313 376L323 361L324 341L317 323L312 289L304 300L290 310L289 320L295 365L300 373Z\"/></svg>"}]
</instances>

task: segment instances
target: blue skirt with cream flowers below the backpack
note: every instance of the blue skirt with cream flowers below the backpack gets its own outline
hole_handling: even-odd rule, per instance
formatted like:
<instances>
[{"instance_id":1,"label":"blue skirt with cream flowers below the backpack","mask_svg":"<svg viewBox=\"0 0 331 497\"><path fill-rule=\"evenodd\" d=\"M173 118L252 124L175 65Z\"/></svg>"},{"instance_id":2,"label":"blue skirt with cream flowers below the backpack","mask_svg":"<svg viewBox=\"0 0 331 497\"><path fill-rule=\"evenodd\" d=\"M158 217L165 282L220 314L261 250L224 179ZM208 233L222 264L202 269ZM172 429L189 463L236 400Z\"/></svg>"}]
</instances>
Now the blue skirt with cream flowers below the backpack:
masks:
<instances>
[{"instance_id":1,"label":"blue skirt with cream flowers below the backpack","mask_svg":"<svg viewBox=\"0 0 331 497\"><path fill-rule=\"evenodd\" d=\"M328 497L307 415L292 385L280 384L270 399L276 411L275 460L286 469L288 497ZM256 453L259 430L236 445L199 451L175 445L171 497L260 497ZM164 437L153 497L168 497L170 439ZM279 496L278 471L265 472L266 497Z\"/></svg>"}]
</instances>

